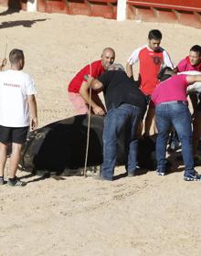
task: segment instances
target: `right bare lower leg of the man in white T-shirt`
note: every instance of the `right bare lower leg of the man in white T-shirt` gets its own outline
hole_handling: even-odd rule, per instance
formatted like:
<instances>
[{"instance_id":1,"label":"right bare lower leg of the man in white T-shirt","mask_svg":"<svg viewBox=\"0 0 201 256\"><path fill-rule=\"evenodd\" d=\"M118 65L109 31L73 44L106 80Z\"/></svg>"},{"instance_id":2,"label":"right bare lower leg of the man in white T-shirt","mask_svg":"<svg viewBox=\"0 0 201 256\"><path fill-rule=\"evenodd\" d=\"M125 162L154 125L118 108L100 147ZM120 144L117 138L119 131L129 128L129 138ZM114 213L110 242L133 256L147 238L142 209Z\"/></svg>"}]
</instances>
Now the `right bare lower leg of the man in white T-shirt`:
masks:
<instances>
[{"instance_id":1,"label":"right bare lower leg of the man in white T-shirt","mask_svg":"<svg viewBox=\"0 0 201 256\"><path fill-rule=\"evenodd\" d=\"M12 144L12 154L10 156L10 178L15 178L16 170L21 157L22 144Z\"/></svg>"}]
</instances>

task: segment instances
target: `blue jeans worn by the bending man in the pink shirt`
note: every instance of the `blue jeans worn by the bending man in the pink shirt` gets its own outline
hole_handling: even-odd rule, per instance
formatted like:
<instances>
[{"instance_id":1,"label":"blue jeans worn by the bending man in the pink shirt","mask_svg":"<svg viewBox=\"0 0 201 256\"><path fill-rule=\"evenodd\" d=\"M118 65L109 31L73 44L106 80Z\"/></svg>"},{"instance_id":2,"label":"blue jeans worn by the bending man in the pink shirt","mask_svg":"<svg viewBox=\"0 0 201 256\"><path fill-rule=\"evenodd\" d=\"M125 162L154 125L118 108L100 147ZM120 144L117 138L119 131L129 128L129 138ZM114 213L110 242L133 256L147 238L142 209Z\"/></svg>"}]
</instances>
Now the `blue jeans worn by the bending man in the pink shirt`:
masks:
<instances>
[{"instance_id":1,"label":"blue jeans worn by the bending man in the pink shirt","mask_svg":"<svg viewBox=\"0 0 201 256\"><path fill-rule=\"evenodd\" d=\"M191 115L188 106L183 102L164 102L155 108L156 127L156 159L158 171L165 171L165 155L168 133L171 124L182 144L182 156L185 174L195 174L192 148Z\"/></svg>"}]
</instances>

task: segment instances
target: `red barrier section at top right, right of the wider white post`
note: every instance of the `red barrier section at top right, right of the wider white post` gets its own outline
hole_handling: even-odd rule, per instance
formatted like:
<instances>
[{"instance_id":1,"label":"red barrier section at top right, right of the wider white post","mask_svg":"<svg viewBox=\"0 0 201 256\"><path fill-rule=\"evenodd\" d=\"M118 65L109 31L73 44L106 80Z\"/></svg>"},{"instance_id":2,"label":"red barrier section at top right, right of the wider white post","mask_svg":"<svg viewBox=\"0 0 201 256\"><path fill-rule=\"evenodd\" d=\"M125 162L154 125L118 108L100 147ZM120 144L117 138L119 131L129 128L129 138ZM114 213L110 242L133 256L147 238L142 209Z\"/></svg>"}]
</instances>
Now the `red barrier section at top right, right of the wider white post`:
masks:
<instances>
[{"instance_id":1,"label":"red barrier section at top right, right of the wider white post","mask_svg":"<svg viewBox=\"0 0 201 256\"><path fill-rule=\"evenodd\" d=\"M201 27L200 0L127 0L127 17Z\"/></svg>"}]
</instances>

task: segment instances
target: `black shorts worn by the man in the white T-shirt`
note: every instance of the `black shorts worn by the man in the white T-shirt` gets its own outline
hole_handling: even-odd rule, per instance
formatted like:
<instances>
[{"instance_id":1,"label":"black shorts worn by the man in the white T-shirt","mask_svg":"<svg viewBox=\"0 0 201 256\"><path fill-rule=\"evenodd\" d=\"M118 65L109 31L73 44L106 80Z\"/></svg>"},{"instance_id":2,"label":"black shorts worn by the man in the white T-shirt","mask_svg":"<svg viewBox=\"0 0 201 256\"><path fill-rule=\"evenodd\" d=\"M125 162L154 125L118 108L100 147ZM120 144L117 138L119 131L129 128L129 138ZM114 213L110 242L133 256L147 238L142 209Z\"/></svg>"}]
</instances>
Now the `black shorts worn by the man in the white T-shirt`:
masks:
<instances>
[{"instance_id":1,"label":"black shorts worn by the man in the white T-shirt","mask_svg":"<svg viewBox=\"0 0 201 256\"><path fill-rule=\"evenodd\" d=\"M0 125L0 142L3 144L24 144L28 133L26 127L5 127Z\"/></svg>"}]
</instances>

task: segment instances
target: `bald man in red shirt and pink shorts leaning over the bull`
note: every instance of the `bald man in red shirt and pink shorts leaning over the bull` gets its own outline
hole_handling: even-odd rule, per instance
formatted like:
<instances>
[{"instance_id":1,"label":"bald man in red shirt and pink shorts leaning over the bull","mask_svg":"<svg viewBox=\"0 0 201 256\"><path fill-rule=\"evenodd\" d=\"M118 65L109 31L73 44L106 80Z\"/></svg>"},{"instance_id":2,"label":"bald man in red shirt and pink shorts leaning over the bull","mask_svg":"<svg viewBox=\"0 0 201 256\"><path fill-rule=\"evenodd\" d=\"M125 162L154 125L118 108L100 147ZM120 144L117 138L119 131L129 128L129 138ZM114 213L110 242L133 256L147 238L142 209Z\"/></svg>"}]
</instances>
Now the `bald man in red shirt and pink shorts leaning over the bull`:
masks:
<instances>
[{"instance_id":1,"label":"bald man in red shirt and pink shorts leaning over the bull","mask_svg":"<svg viewBox=\"0 0 201 256\"><path fill-rule=\"evenodd\" d=\"M85 114L89 112L89 105L79 94L80 87L87 84L87 80L84 78L85 75L90 75L94 79L100 77L114 62L115 51L112 48L104 48L101 54L101 59L92 62L91 64L80 69L76 76L69 82L68 94L69 101L74 106L75 112L77 114ZM93 108L91 112L105 113L105 108L97 92L92 92L91 102L93 103ZM92 105L92 104L91 104Z\"/></svg>"}]
</instances>

